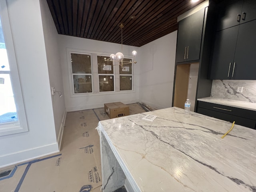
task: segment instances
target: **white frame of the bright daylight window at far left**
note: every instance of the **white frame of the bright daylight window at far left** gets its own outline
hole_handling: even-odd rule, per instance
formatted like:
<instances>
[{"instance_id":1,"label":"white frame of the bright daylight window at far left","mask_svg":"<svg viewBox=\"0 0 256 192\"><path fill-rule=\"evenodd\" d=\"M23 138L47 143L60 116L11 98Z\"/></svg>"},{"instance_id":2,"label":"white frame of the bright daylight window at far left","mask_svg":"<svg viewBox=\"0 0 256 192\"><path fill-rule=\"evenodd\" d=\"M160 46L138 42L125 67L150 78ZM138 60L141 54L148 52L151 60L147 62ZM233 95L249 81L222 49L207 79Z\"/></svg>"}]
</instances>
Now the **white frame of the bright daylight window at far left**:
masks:
<instances>
[{"instance_id":1,"label":"white frame of the bright daylight window at far left","mask_svg":"<svg viewBox=\"0 0 256 192\"><path fill-rule=\"evenodd\" d=\"M12 83L12 91L14 93L14 101L16 104L18 121L0 123L0 136L22 133L28 131L28 123L26 119L26 112L23 103L22 89L20 86L20 77L16 61L14 43L12 39L12 30L10 26L10 19L6 0L0 0L0 18L3 27L4 41L8 55L10 71L1 72L10 74Z\"/></svg>"}]
</instances>

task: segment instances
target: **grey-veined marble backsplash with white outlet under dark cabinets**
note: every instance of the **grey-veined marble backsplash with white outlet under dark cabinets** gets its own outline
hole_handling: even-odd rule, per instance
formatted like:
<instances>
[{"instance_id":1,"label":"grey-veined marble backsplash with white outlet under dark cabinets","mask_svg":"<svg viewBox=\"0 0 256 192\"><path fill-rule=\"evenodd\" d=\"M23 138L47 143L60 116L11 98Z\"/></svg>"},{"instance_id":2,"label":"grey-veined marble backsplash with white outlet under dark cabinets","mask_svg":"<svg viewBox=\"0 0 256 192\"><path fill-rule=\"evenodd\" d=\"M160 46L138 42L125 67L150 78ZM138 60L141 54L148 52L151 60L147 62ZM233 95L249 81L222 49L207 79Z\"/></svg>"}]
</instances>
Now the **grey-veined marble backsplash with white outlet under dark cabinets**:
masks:
<instances>
[{"instance_id":1,"label":"grey-veined marble backsplash with white outlet under dark cabinets","mask_svg":"<svg viewBox=\"0 0 256 192\"><path fill-rule=\"evenodd\" d=\"M242 93L237 87L243 87ZM256 103L256 80L213 80L211 96Z\"/></svg>"}]
</instances>

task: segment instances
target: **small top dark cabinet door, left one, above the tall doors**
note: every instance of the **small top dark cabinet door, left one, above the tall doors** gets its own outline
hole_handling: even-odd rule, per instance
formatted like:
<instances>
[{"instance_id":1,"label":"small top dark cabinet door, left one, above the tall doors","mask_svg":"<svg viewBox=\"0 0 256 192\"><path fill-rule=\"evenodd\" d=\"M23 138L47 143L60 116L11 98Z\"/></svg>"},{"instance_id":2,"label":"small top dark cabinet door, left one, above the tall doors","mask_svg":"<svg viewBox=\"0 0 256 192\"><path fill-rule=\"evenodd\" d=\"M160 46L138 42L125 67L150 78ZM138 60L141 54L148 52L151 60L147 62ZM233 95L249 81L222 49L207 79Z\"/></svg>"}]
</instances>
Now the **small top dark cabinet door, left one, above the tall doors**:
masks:
<instances>
[{"instance_id":1,"label":"small top dark cabinet door, left one, above the tall doors","mask_svg":"<svg viewBox=\"0 0 256 192\"><path fill-rule=\"evenodd\" d=\"M226 0L218 4L216 31L240 24L242 5L242 0Z\"/></svg>"}]
</instances>

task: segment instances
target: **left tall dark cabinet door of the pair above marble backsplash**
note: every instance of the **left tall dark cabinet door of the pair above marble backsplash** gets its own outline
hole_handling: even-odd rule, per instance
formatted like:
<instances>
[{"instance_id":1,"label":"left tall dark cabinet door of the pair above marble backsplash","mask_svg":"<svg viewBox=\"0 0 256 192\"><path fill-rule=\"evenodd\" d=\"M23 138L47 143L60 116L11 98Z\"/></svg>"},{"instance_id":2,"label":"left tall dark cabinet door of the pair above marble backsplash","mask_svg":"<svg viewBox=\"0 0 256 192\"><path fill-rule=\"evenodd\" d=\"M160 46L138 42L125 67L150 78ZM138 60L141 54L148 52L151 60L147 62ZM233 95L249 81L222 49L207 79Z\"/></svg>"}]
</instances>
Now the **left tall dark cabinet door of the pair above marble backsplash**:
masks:
<instances>
[{"instance_id":1,"label":"left tall dark cabinet door of the pair above marble backsplash","mask_svg":"<svg viewBox=\"0 0 256 192\"><path fill-rule=\"evenodd\" d=\"M216 32L210 79L230 79L239 26Z\"/></svg>"}]
</instances>

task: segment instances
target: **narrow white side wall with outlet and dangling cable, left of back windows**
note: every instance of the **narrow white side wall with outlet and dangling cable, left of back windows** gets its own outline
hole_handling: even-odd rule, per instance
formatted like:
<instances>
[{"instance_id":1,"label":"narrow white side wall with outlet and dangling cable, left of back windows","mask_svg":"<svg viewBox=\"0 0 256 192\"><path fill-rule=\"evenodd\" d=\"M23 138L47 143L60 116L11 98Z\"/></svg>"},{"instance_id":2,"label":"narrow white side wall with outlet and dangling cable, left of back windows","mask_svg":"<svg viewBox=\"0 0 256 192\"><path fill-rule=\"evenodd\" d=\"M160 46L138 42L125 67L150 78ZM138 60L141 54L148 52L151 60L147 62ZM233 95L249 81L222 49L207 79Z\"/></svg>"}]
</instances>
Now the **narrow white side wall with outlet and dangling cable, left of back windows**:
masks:
<instances>
[{"instance_id":1,"label":"narrow white side wall with outlet and dangling cable, left of back windows","mask_svg":"<svg viewBox=\"0 0 256 192\"><path fill-rule=\"evenodd\" d=\"M60 64L60 54L58 47L58 32L56 30L49 6L46 0L40 0L41 16L44 32L44 42L46 48L46 57L48 63L48 73L50 87L54 87L60 92L63 90L62 71ZM52 95L52 108L54 114L55 132L60 147L64 121L66 117L66 108L64 96L59 97L58 93Z\"/></svg>"}]
</instances>

